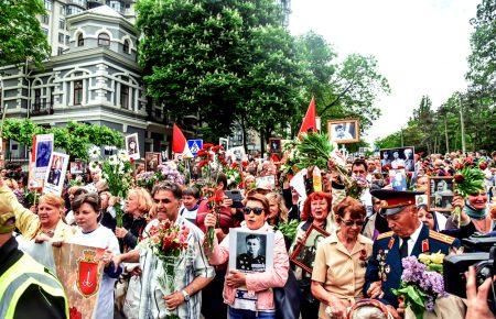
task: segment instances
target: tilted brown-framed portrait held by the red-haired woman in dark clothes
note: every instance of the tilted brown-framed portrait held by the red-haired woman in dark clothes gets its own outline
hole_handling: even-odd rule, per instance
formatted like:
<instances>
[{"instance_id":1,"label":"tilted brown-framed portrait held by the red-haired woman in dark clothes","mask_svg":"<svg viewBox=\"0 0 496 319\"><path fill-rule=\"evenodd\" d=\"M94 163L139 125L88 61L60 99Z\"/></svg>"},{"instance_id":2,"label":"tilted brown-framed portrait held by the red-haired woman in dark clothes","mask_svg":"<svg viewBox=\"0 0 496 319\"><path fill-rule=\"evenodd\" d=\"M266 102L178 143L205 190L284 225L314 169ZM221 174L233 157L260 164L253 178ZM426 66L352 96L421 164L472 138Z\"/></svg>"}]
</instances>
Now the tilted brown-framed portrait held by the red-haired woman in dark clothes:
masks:
<instances>
[{"instance_id":1,"label":"tilted brown-framed portrait held by the red-haired woman in dark clothes","mask_svg":"<svg viewBox=\"0 0 496 319\"><path fill-rule=\"evenodd\" d=\"M290 261L309 274L312 274L313 263L319 243L330 234L313 223L305 232L304 242L299 243L290 256Z\"/></svg>"}]
</instances>

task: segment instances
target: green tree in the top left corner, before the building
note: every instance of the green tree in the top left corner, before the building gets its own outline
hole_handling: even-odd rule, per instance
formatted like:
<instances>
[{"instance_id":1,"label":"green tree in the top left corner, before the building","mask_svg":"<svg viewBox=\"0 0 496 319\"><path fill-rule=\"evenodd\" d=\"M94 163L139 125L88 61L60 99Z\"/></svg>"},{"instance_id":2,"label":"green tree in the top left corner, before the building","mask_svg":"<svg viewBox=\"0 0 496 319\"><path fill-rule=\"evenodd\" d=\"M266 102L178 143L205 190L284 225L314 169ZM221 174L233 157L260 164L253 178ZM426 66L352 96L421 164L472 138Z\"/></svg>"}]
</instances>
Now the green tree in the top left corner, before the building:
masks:
<instances>
[{"instance_id":1,"label":"green tree in the top left corner, before the building","mask_svg":"<svg viewBox=\"0 0 496 319\"><path fill-rule=\"evenodd\" d=\"M26 59L41 66L50 45L36 14L46 14L41 0L0 1L0 66Z\"/></svg>"}]
</instances>

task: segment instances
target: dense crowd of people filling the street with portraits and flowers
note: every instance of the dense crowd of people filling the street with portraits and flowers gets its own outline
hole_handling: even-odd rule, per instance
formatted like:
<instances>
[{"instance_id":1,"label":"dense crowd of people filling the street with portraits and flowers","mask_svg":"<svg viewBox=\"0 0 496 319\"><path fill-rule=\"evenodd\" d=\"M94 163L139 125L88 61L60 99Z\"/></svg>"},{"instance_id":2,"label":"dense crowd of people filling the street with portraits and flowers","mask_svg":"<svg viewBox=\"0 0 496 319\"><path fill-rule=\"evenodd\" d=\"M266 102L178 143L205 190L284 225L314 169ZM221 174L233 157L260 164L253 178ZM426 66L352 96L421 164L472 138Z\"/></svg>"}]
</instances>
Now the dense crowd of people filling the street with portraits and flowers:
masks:
<instances>
[{"instance_id":1,"label":"dense crowd of people filling the street with portraits and flowers","mask_svg":"<svg viewBox=\"0 0 496 319\"><path fill-rule=\"evenodd\" d=\"M136 183L127 198L112 196L96 167L86 174L67 173L62 196L45 194L33 201L22 168L3 168L0 318L68 316L62 285L46 271L46 261L36 258L36 245L26 242L105 249L95 318L347 318L364 298L380 301L377 309L386 316L407 318L405 302L392 293L400 284L402 258L456 253L463 239L496 231L496 152L409 154L408 158L413 156L414 162L393 164L395 168L411 166L409 190L393 189L387 172L390 165L385 158L381 163L379 155L343 156L347 177L363 183L364 190L354 198L347 194L345 176L331 162L319 167L322 189L315 189L316 168L302 170L299 185L292 180L296 175L281 173L283 161L277 156L250 155L233 165L239 180L216 174L216 210L202 187L202 169L196 169L195 160L187 165L190 173L183 183L176 183L177 178L148 187ZM227 161L230 165L236 158ZM467 163L484 173L481 189L465 198L453 195L444 206L449 210L443 211L419 200L430 187L429 177L453 176L459 164ZM134 165L138 179L145 169L139 161ZM257 183L267 176L274 176L273 185ZM122 227L116 222L117 205L125 211ZM452 215L455 209L460 216ZM140 245L153 227L166 220L188 229L190 251L190 257L175 265L175 290L170 294L160 284L164 276L161 260ZM293 235L284 231L291 224ZM211 229L212 246L207 244ZM247 248L231 256L230 238L238 234L239 239L239 233L246 234L242 244ZM261 233L273 233L270 244ZM291 256L302 256L305 264ZM13 287L25 273L31 286ZM467 299L450 296L444 309L436 308L438 315L451 311L452 318L495 318L486 302L489 284L477 290L474 276L471 270ZM23 290L12 294L13 289ZM285 304L278 297L281 293Z\"/></svg>"}]
</instances>

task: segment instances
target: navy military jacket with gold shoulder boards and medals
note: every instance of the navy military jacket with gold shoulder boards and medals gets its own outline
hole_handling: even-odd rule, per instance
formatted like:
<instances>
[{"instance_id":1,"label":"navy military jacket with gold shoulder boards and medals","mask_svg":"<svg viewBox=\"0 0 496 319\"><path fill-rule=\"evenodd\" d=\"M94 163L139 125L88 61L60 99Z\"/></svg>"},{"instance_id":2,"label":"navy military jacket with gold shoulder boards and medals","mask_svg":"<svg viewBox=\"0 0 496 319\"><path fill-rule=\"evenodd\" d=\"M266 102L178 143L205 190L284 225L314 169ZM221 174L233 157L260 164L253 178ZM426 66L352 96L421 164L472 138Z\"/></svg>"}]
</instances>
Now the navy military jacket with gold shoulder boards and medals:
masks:
<instances>
[{"instance_id":1,"label":"navy military jacket with gold shoulder boards and medals","mask_svg":"<svg viewBox=\"0 0 496 319\"><path fill-rule=\"evenodd\" d=\"M379 300L395 308L398 308L398 297L392 294L391 289L399 287L403 272L399 242L400 238L392 231L382 233L377 238L365 273L364 285L364 296L368 296L367 290L370 284L382 280L384 298ZM451 252L451 248L460 248L460 245L461 243L457 239L429 230L427 226L422 226L410 256L438 252L448 255Z\"/></svg>"}]
</instances>

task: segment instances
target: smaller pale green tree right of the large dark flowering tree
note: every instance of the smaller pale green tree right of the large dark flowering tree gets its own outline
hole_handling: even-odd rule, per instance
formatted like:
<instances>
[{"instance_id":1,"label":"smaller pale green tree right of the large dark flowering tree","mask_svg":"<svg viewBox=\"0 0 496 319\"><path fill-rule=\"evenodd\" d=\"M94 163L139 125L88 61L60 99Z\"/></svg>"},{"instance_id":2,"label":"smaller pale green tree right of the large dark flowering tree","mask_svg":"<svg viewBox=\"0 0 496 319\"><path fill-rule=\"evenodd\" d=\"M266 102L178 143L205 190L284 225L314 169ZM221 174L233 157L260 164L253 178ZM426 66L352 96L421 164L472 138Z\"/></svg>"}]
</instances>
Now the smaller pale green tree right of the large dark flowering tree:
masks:
<instances>
[{"instance_id":1,"label":"smaller pale green tree right of the large dark flowering tree","mask_svg":"<svg viewBox=\"0 0 496 319\"><path fill-rule=\"evenodd\" d=\"M359 118L365 132L380 116L374 106L377 96L390 91L386 77L377 69L377 61L352 54L338 63L333 47L313 32L299 37L299 48L311 74L305 78L306 98L315 97L322 123L328 119Z\"/></svg>"}]
</instances>

